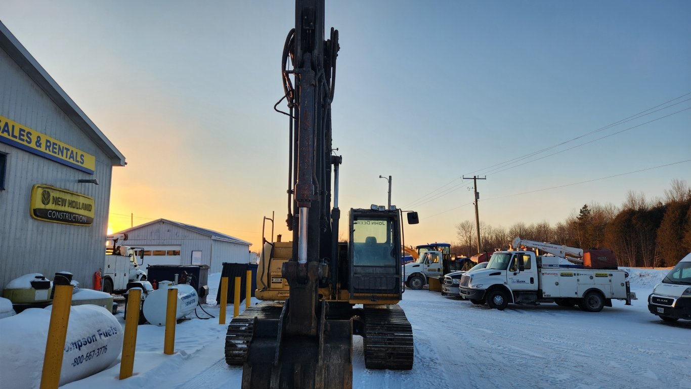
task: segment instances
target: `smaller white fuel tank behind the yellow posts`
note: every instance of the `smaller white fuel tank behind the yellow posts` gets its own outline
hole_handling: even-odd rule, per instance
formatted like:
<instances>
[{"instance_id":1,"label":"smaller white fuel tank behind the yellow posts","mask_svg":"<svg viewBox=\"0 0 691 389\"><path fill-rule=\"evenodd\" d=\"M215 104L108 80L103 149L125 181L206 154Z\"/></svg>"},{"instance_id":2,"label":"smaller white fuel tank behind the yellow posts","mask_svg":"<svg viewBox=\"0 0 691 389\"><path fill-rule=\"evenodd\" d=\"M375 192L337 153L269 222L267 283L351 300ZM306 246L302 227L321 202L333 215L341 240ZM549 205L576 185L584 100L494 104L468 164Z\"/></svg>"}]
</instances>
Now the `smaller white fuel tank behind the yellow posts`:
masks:
<instances>
[{"instance_id":1,"label":"smaller white fuel tank behind the yellow posts","mask_svg":"<svg viewBox=\"0 0 691 389\"><path fill-rule=\"evenodd\" d=\"M166 325L166 310L168 307L168 290L170 288L178 289L178 307L176 310L176 320L182 319L194 312L199 302L197 291L187 284L173 285L170 281L161 281L158 283L158 289L149 292L144 300L144 318L153 325Z\"/></svg>"}]
</instances>

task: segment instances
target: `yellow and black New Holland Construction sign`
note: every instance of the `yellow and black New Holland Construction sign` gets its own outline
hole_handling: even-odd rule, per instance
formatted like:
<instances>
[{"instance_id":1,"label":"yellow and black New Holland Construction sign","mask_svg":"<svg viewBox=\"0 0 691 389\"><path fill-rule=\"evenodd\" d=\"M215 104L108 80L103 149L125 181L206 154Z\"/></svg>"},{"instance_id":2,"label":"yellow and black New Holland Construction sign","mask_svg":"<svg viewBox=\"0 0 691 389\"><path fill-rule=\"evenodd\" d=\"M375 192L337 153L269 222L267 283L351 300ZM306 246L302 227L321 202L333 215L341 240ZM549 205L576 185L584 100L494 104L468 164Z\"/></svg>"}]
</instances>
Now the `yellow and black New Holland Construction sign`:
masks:
<instances>
[{"instance_id":1,"label":"yellow and black New Holland Construction sign","mask_svg":"<svg viewBox=\"0 0 691 389\"><path fill-rule=\"evenodd\" d=\"M31 189L31 217L69 225L93 223L93 198L48 185Z\"/></svg>"}]
</instances>

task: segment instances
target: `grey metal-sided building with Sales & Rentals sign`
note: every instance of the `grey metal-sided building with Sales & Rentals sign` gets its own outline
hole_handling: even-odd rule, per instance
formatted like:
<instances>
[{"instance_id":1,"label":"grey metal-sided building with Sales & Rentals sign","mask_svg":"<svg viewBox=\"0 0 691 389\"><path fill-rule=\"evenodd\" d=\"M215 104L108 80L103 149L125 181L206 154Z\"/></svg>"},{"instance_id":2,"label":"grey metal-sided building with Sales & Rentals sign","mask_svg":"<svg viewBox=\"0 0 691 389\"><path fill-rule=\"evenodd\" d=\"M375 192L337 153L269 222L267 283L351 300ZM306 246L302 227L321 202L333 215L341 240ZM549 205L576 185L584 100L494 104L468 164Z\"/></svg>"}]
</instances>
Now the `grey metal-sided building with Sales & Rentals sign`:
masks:
<instances>
[{"instance_id":1,"label":"grey metal-sided building with Sales & Rentals sign","mask_svg":"<svg viewBox=\"0 0 691 389\"><path fill-rule=\"evenodd\" d=\"M14 278L103 267L113 166L125 158L0 23L0 293ZM98 184L95 184L95 183Z\"/></svg>"}]
</instances>

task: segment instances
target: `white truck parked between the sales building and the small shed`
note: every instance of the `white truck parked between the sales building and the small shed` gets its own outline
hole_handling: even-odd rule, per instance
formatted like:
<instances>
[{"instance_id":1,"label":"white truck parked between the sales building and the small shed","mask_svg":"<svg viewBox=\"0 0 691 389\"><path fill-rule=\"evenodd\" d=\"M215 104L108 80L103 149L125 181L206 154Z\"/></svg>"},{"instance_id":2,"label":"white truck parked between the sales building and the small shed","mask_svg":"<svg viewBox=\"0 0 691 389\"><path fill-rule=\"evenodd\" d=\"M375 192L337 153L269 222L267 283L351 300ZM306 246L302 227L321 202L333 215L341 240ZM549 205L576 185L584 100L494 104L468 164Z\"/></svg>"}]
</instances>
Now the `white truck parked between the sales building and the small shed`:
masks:
<instances>
[{"instance_id":1,"label":"white truck parked between the sales building and the small shed","mask_svg":"<svg viewBox=\"0 0 691 389\"><path fill-rule=\"evenodd\" d=\"M106 257L103 264L102 283L103 292L123 294L127 284L146 281L146 273L139 268L138 256L144 259L141 247L122 245L127 239L126 234L106 236Z\"/></svg>"}]
</instances>

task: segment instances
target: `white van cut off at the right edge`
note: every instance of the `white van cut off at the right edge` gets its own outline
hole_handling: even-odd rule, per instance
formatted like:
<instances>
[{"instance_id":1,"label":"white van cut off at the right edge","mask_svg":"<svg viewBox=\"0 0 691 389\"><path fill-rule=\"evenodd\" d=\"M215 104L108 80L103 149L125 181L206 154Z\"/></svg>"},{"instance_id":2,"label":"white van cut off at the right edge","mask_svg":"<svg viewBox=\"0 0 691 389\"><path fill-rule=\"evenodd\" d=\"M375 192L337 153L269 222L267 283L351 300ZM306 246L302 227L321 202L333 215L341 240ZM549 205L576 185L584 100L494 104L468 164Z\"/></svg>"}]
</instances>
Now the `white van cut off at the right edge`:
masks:
<instances>
[{"instance_id":1,"label":"white van cut off at the right edge","mask_svg":"<svg viewBox=\"0 0 691 389\"><path fill-rule=\"evenodd\" d=\"M648 310L667 322L691 320L691 253L655 285L648 296Z\"/></svg>"}]
</instances>

